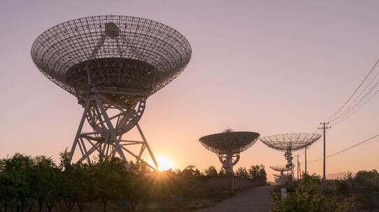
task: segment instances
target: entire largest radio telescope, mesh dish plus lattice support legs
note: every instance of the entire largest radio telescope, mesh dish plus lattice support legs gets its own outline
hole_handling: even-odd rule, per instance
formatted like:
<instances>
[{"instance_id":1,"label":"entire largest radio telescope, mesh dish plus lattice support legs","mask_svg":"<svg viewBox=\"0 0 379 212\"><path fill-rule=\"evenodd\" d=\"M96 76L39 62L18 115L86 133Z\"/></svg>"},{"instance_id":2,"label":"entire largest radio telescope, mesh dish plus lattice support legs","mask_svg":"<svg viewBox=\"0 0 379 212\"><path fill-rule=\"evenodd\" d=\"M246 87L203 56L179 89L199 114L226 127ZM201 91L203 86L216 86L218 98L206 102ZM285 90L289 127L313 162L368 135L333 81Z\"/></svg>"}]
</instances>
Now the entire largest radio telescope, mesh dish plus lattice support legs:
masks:
<instances>
[{"instance_id":1,"label":"entire largest radio telescope, mesh dish plus lattice support legs","mask_svg":"<svg viewBox=\"0 0 379 212\"><path fill-rule=\"evenodd\" d=\"M77 146L78 162L91 162L94 153L124 161L129 154L144 162L141 157L148 150L157 167L138 121L146 99L190 61L190 43L182 34L140 17L83 17L43 32L31 47L31 57L45 77L84 107L71 160ZM91 132L82 132L85 123ZM122 139L134 126L142 141ZM130 145L140 146L134 153Z\"/></svg>"}]
</instances>

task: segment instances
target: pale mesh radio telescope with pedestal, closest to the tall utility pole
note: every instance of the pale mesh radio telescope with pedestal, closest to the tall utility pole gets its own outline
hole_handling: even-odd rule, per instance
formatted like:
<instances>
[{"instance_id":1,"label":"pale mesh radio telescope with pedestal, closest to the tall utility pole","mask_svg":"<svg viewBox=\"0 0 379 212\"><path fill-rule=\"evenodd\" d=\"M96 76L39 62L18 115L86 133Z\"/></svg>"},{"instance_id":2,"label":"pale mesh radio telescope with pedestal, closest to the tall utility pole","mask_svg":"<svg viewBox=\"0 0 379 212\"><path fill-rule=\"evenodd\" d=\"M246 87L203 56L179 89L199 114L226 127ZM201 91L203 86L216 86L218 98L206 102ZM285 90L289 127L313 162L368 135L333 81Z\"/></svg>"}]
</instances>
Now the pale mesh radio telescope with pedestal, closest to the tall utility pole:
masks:
<instances>
[{"instance_id":1,"label":"pale mesh radio telescope with pedestal, closest to the tall utility pole","mask_svg":"<svg viewBox=\"0 0 379 212\"><path fill-rule=\"evenodd\" d=\"M260 140L272 149L285 152L285 159L287 160L287 168L292 169L292 176L294 174L292 163L292 151L303 149L305 146L313 144L313 142L320 139L321 135L317 133L288 133L278 135L268 135L262 137Z\"/></svg>"}]
</instances>

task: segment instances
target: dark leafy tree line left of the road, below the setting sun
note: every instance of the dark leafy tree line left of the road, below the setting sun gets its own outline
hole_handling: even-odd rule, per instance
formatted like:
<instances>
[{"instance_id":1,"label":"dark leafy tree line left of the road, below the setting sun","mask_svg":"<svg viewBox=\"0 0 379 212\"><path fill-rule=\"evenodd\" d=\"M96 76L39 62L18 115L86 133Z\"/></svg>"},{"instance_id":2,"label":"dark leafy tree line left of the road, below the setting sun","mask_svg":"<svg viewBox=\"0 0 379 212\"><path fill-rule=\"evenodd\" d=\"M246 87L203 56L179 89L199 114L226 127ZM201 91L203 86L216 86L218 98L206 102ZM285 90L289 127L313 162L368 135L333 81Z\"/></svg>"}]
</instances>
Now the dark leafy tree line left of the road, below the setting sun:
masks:
<instances>
[{"instance_id":1,"label":"dark leafy tree line left of the road, below the setting sun","mask_svg":"<svg viewBox=\"0 0 379 212\"><path fill-rule=\"evenodd\" d=\"M241 167L237 176L266 181L262 165L248 170ZM227 174L214 166L203 172L190 165L183 170L152 171L143 163L131 162L127 169L119 158L101 158L91 164L69 162L69 153L60 154L59 163L45 156L15 155L0 159L0 212L3 211L85 211L88 202L100 202L109 211L117 202L129 211L148 201L193 199L202 182ZM197 187L196 187L197 186Z\"/></svg>"}]
</instances>

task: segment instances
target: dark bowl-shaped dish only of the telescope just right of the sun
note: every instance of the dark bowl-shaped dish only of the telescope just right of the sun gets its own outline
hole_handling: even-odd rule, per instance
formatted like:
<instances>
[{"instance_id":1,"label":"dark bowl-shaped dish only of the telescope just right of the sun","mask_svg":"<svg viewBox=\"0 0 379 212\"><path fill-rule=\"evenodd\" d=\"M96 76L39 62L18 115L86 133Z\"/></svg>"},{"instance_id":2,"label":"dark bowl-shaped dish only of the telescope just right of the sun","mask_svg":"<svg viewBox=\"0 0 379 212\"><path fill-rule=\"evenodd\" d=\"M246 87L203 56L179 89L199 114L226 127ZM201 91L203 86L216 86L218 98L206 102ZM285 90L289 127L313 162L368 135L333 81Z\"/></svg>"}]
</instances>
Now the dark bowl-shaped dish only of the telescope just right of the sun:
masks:
<instances>
[{"instance_id":1,"label":"dark bowl-shaped dish only of the telescope just right of the sun","mask_svg":"<svg viewBox=\"0 0 379 212\"><path fill-rule=\"evenodd\" d=\"M206 135L199 139L206 149L219 155L241 153L257 142L257 132L227 131Z\"/></svg>"}]
</instances>

